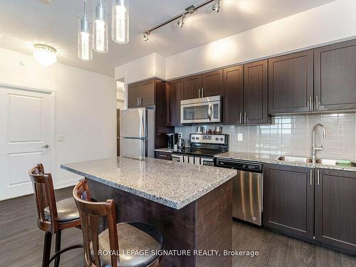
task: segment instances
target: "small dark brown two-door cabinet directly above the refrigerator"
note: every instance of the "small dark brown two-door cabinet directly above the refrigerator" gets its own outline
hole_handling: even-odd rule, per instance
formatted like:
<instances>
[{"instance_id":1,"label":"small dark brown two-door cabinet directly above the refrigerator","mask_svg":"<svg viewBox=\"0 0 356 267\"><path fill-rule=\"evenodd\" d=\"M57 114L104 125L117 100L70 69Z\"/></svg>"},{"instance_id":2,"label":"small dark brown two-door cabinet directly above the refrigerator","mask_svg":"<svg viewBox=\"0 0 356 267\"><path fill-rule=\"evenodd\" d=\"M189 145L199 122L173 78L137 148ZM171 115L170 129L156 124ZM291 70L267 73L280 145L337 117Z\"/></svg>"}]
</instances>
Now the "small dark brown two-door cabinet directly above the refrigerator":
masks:
<instances>
[{"instance_id":1,"label":"small dark brown two-door cabinet directly above the refrigerator","mask_svg":"<svg viewBox=\"0 0 356 267\"><path fill-rule=\"evenodd\" d=\"M152 79L130 84L127 88L128 108L155 105L155 88L158 81Z\"/></svg>"}]
</instances>

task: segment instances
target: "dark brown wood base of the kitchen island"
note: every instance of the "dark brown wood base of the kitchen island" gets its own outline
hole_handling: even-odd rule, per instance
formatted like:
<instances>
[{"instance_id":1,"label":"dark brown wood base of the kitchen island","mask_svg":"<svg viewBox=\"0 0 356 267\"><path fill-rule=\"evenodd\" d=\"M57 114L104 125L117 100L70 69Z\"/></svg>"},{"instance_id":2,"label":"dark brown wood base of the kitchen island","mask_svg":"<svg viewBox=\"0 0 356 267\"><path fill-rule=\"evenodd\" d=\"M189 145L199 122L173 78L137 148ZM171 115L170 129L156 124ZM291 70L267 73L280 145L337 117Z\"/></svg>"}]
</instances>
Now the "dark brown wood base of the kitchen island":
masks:
<instances>
[{"instance_id":1,"label":"dark brown wood base of the kitchen island","mask_svg":"<svg viewBox=\"0 0 356 267\"><path fill-rule=\"evenodd\" d=\"M165 251L172 250L177 255L184 251L191 253L191 256L163 256L163 267L232 266L232 257L223 256L224 250L232 249L231 180L182 209L173 209L92 179L88 182L94 199L115 201L117 223L142 221L152 224L164 236ZM203 253L210 254L204 256Z\"/></svg>"}]
</instances>

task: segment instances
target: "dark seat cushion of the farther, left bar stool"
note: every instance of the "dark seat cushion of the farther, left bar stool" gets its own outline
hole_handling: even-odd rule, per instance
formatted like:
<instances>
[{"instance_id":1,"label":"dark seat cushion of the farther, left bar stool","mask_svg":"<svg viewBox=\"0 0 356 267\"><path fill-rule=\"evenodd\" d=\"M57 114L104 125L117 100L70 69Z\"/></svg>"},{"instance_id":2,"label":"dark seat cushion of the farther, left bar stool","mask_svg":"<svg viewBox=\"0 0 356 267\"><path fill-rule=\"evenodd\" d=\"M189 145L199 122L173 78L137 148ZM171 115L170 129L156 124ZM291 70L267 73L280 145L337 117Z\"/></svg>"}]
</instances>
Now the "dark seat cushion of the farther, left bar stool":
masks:
<instances>
[{"instance_id":1,"label":"dark seat cushion of the farther, left bar stool","mask_svg":"<svg viewBox=\"0 0 356 267\"><path fill-rule=\"evenodd\" d=\"M79 219L79 211L73 198L63 199L56 202L59 222L68 222ZM49 208L44 209L46 220L51 221Z\"/></svg>"}]
</instances>

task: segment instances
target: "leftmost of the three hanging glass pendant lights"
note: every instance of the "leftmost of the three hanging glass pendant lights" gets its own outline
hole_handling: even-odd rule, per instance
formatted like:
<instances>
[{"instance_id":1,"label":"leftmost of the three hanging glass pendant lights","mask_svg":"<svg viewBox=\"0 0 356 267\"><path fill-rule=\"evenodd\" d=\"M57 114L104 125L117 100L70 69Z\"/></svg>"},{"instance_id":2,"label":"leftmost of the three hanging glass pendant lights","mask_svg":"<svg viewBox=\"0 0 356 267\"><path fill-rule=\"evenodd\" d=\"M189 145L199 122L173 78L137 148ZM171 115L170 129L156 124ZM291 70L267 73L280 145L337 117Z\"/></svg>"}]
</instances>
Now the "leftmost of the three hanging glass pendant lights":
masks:
<instances>
[{"instance_id":1,"label":"leftmost of the three hanging glass pendant lights","mask_svg":"<svg viewBox=\"0 0 356 267\"><path fill-rule=\"evenodd\" d=\"M78 16L78 58L83 61L93 60L93 40L87 16L87 0L84 0L84 14Z\"/></svg>"}]
</instances>

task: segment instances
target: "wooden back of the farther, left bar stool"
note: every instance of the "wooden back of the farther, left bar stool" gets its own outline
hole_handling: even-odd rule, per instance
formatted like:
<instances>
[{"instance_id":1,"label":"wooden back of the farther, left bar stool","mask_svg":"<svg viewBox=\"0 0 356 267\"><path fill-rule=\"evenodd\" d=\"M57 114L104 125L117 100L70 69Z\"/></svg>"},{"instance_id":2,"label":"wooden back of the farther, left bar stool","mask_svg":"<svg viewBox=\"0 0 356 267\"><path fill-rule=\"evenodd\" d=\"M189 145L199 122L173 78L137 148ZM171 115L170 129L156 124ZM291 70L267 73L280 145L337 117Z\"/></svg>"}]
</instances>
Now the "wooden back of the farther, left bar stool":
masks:
<instances>
[{"instance_id":1,"label":"wooden back of the farther, left bar stool","mask_svg":"<svg viewBox=\"0 0 356 267\"><path fill-rule=\"evenodd\" d=\"M43 165L37 164L28 172L33 184L37 208L38 228L56 234L59 230L56 197L53 189L53 181L50 173L45 174ZM48 207L50 220L46 219L44 209Z\"/></svg>"}]
</instances>

